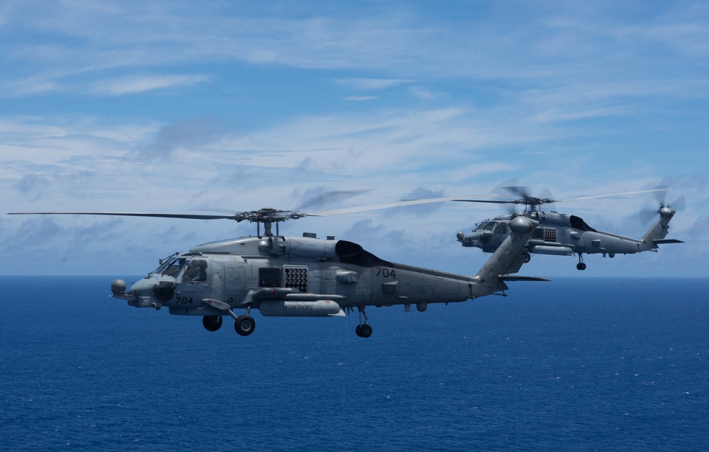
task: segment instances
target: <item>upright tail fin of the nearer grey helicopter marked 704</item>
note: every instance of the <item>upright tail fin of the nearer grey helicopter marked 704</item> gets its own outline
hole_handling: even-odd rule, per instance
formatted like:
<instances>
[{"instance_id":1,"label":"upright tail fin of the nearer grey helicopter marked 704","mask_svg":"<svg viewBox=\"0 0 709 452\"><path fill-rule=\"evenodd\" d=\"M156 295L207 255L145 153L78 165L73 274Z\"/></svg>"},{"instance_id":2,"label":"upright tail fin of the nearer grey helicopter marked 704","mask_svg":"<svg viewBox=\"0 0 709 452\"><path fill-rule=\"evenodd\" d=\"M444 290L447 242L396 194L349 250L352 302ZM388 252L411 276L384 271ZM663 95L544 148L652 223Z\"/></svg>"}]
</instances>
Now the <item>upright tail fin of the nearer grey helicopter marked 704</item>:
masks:
<instances>
[{"instance_id":1,"label":"upright tail fin of the nearer grey helicopter marked 704","mask_svg":"<svg viewBox=\"0 0 709 452\"><path fill-rule=\"evenodd\" d=\"M510 270L516 271L519 268L518 259L525 252L527 240L532 237L539 222L527 217L515 217L510 222L512 232L504 242L490 256L490 259L482 266L475 278L478 283L473 287L473 295L481 297L491 293L506 290L508 287L504 281L526 280L526 281L547 281L543 278L527 278L508 276Z\"/></svg>"}]
</instances>

